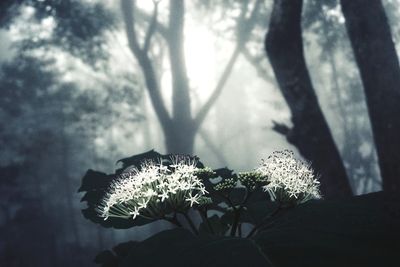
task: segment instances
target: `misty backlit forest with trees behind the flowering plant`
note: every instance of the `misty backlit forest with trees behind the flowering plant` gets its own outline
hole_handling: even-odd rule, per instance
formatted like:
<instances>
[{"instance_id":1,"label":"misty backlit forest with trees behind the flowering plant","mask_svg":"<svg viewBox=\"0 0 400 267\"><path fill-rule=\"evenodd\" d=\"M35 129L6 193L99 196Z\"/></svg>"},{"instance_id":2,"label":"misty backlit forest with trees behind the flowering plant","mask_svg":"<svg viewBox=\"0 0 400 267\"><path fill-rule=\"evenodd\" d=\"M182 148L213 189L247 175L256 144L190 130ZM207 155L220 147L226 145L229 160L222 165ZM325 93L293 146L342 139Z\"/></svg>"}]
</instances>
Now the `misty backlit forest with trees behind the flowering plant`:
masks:
<instances>
[{"instance_id":1,"label":"misty backlit forest with trees behind the flowering plant","mask_svg":"<svg viewBox=\"0 0 400 267\"><path fill-rule=\"evenodd\" d=\"M289 148L326 198L399 190L399 19L398 0L1 1L0 265L91 266L169 227L81 214L87 169L153 148L235 171Z\"/></svg>"}]
</instances>

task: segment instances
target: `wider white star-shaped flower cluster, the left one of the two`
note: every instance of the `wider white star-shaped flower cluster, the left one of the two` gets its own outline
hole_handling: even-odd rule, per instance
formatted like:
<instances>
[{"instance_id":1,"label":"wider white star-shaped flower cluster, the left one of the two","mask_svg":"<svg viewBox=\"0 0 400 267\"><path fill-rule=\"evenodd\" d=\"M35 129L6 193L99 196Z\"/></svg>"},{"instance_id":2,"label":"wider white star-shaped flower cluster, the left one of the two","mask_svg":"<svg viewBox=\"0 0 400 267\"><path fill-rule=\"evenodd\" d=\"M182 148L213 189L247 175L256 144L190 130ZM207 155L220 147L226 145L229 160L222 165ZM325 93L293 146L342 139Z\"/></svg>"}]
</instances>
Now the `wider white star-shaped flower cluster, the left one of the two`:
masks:
<instances>
[{"instance_id":1,"label":"wider white star-shaped flower cluster, the left one of the two","mask_svg":"<svg viewBox=\"0 0 400 267\"><path fill-rule=\"evenodd\" d=\"M101 205L101 217L133 218L143 216L160 218L171 208L180 211L199 204L207 193L197 177L196 162L188 157L175 157L166 166L145 162L140 170L133 168L115 180Z\"/></svg>"}]
</instances>

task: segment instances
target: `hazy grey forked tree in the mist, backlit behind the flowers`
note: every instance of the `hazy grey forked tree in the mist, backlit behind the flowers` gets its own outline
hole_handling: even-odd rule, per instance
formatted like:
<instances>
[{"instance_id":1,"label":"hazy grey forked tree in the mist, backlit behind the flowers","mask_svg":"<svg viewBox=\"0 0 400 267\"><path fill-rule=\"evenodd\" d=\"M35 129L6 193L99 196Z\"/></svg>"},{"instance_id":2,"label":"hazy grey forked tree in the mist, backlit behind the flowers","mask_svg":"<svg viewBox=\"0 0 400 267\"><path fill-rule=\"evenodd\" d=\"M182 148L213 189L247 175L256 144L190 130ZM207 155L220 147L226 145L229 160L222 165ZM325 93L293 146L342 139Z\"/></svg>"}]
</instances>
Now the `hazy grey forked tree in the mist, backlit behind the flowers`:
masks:
<instances>
[{"instance_id":1,"label":"hazy grey forked tree in the mist, backlit behind the flowers","mask_svg":"<svg viewBox=\"0 0 400 267\"><path fill-rule=\"evenodd\" d=\"M248 40L249 33L254 27L255 17L262 0L256 0L250 17L246 18L248 1L243 2L242 13L238 21L238 27L244 27L241 37L238 38L236 48L232 52L230 60L220 77L217 86L200 108L195 116L191 114L191 99L189 81L186 73L186 63L184 57L184 14L185 1L170 0L169 5L169 25L165 27L157 22L157 1L149 28L145 34L144 42L138 40L135 31L135 1L120 0L121 11L125 22L125 30L128 37L129 48L136 57L145 77L146 88L150 95L150 100L161 124L165 136L165 146L167 153L193 154L193 147L196 133L198 132L205 117L211 107L221 95L227 79L229 78L234 63L239 52ZM136 14L140 17L140 12ZM169 49L169 60L172 76L172 114L167 111L166 104L162 97L161 88L156 79L156 72L152 59L149 54L149 47L154 33L159 33Z\"/></svg>"}]
</instances>

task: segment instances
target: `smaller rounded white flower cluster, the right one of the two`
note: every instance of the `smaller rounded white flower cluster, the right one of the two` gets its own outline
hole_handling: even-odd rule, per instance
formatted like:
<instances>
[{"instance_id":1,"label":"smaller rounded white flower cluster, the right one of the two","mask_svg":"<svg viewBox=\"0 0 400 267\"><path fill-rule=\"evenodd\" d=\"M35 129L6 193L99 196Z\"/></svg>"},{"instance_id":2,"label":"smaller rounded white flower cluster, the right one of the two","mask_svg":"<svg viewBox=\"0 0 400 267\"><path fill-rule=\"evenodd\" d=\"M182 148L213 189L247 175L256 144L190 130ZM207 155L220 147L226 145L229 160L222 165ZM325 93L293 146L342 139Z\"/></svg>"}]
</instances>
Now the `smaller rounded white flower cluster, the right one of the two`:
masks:
<instances>
[{"instance_id":1,"label":"smaller rounded white flower cluster, the right one of the two","mask_svg":"<svg viewBox=\"0 0 400 267\"><path fill-rule=\"evenodd\" d=\"M296 159L292 151L274 152L257 171L265 175L267 185L263 188L272 200L292 205L321 198L310 164Z\"/></svg>"}]
</instances>

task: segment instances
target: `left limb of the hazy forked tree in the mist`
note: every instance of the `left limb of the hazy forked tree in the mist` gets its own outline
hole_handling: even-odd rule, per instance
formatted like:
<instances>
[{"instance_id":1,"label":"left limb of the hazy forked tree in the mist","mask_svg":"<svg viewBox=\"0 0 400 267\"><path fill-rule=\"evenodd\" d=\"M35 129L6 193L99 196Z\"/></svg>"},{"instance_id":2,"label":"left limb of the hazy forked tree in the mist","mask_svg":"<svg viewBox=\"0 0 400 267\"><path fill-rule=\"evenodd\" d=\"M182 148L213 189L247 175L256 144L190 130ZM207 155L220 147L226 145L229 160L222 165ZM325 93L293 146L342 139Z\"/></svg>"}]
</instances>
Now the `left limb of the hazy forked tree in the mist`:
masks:
<instances>
[{"instance_id":1,"label":"left limb of the hazy forked tree in the mist","mask_svg":"<svg viewBox=\"0 0 400 267\"><path fill-rule=\"evenodd\" d=\"M170 117L162 99L159 85L157 83L156 74L151 64L151 60L146 51L143 51L137 40L135 32L135 19L134 19L134 3L132 0L121 0L121 11L123 14L126 34L128 37L129 48L135 55L142 69L146 81L146 88L150 95L150 100L156 112L156 115L161 123L164 131L170 124Z\"/></svg>"}]
</instances>

